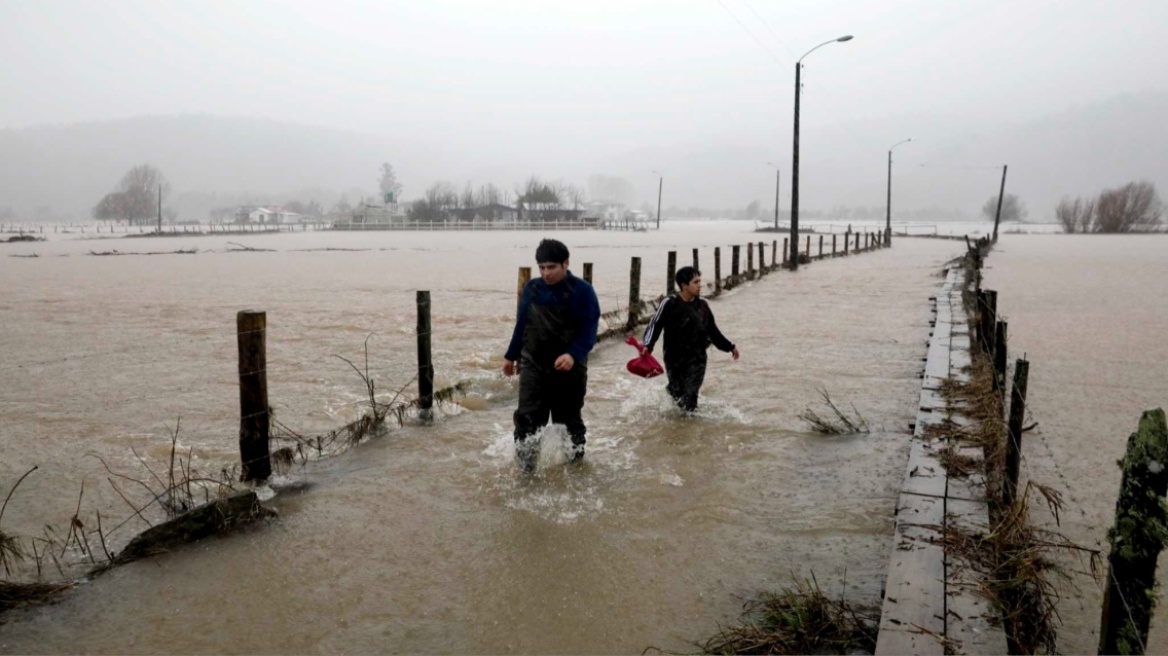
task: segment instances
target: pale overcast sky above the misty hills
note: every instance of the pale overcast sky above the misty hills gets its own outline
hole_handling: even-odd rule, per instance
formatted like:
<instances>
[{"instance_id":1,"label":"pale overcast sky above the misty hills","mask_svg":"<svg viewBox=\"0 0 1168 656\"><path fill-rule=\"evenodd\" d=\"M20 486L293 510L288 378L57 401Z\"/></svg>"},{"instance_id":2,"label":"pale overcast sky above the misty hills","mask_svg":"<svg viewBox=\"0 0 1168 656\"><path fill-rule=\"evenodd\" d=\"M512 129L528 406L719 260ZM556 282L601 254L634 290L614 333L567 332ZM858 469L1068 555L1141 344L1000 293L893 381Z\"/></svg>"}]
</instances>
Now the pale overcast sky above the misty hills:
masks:
<instances>
[{"instance_id":1,"label":"pale overcast sky above the misty hills","mask_svg":"<svg viewBox=\"0 0 1168 656\"><path fill-rule=\"evenodd\" d=\"M500 158L749 140L790 162L794 62L836 36L804 61L804 131L891 145L930 137L920 117L1162 90L1166 28L1164 0L0 0L0 127L214 113Z\"/></svg>"}]
</instances>

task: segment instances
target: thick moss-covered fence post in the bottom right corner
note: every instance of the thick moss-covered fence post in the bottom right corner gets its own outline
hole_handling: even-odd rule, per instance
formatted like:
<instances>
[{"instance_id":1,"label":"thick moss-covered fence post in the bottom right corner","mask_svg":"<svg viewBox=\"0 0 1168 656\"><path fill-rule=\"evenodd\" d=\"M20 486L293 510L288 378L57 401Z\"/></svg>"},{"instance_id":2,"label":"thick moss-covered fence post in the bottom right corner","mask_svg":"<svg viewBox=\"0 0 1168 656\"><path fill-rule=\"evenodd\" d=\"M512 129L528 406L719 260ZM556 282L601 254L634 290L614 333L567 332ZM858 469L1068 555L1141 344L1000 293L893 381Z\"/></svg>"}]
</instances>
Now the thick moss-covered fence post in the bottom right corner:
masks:
<instances>
[{"instance_id":1,"label":"thick moss-covered fence post in the bottom right corner","mask_svg":"<svg viewBox=\"0 0 1168 656\"><path fill-rule=\"evenodd\" d=\"M1124 481L1115 502L1115 525L1107 531L1107 588L1103 595L1099 654L1143 654L1155 605L1156 558L1163 547L1168 491L1168 426L1164 411L1140 417L1127 438L1120 467Z\"/></svg>"}]
</instances>

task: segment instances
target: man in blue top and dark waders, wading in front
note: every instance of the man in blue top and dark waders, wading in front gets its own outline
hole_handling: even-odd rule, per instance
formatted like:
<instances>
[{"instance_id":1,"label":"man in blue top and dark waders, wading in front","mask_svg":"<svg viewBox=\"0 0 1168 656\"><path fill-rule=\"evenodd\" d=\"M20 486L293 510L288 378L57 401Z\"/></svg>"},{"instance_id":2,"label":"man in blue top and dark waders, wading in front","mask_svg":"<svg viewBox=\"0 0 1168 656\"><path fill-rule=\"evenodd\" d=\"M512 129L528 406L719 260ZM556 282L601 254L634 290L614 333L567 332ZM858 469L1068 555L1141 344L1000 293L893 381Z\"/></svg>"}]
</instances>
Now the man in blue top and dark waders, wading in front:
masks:
<instances>
[{"instance_id":1,"label":"man in blue top and dark waders, wading in front","mask_svg":"<svg viewBox=\"0 0 1168 656\"><path fill-rule=\"evenodd\" d=\"M570 461L584 458L584 392L588 389L588 354L596 344L600 303L592 285L568 271L568 246L544 239L535 250L540 278L531 279L520 295L510 346L503 356L503 375L519 372L519 409L515 410L515 454L523 472L535 472L538 442L528 441L548 423L563 424L571 437Z\"/></svg>"}]
</instances>

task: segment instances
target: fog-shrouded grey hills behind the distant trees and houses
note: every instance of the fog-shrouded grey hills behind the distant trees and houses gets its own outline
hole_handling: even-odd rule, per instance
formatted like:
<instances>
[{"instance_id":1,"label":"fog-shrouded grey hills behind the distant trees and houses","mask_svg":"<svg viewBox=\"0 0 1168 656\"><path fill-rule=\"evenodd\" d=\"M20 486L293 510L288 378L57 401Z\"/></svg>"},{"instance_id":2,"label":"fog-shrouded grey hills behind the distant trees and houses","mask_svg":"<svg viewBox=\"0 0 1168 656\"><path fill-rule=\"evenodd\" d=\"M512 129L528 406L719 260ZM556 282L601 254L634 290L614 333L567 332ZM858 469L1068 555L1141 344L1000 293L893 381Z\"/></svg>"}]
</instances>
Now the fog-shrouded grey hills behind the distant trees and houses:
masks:
<instances>
[{"instance_id":1,"label":"fog-shrouded grey hills behind the distant trees and houses","mask_svg":"<svg viewBox=\"0 0 1168 656\"><path fill-rule=\"evenodd\" d=\"M1064 195L1096 194L1150 180L1168 195L1168 92L1117 97L1041 119L986 126L941 117L899 117L862 125L805 123L804 208L883 207L887 148L911 125L913 142L896 151L894 207L947 208L969 216L996 194L1002 163L1007 191L1031 221L1049 221ZM787 128L790 130L790 128ZM790 132L787 132L790 134ZM171 201L186 219L214 205L315 200L326 208L345 195L376 191L383 161L394 165L406 198L431 182L467 180L503 188L530 174L584 186L589 175L626 176L639 201L655 202L666 176L668 207L773 207L774 169L790 203L790 137L781 145L691 134L684 144L630 147L620 153L559 153L515 161L506 144L460 152L434 135L385 138L255 118L172 116L0 131L0 210L15 218L88 218L90 209L132 166L148 162L169 180ZM776 155L776 153L781 153ZM663 163L661 163L663 162Z\"/></svg>"}]
</instances>

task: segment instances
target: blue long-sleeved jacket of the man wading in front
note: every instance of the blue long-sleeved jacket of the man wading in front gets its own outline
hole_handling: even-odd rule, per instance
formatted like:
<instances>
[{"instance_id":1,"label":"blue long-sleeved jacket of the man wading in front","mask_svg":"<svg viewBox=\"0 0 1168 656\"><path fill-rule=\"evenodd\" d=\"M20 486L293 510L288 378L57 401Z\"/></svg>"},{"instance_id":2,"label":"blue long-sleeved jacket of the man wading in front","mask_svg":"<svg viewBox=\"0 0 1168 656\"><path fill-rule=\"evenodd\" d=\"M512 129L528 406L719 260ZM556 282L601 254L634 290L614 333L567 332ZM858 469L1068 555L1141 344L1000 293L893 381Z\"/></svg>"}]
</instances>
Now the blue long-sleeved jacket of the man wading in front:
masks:
<instances>
[{"instance_id":1,"label":"blue long-sleeved jacket of the man wading in front","mask_svg":"<svg viewBox=\"0 0 1168 656\"><path fill-rule=\"evenodd\" d=\"M551 367L563 354L584 364L596 344L600 303L592 285L569 271L563 280L548 285L534 278L523 287L515 330L507 347L507 360Z\"/></svg>"}]
</instances>

